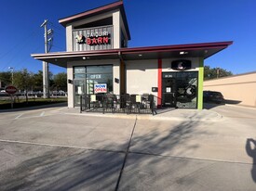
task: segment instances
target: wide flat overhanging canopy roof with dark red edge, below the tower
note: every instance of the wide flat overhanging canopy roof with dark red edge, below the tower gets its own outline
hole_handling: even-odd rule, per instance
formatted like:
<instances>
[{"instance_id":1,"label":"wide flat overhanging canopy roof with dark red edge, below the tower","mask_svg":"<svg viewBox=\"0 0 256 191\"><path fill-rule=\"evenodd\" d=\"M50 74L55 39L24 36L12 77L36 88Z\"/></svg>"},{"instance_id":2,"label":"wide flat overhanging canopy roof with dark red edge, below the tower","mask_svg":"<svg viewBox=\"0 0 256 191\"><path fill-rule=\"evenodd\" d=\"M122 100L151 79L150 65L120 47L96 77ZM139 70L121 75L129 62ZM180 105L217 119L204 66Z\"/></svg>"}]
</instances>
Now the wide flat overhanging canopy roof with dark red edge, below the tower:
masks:
<instances>
[{"instance_id":1,"label":"wide flat overhanging canopy roof with dark red edge, below the tower","mask_svg":"<svg viewBox=\"0 0 256 191\"><path fill-rule=\"evenodd\" d=\"M185 57L203 57L208 58L222 51L232 41L189 44L189 45L163 45L147 46L135 48L118 48L97 51L75 51L75 52L55 52L47 54L32 54L35 59L46 61L57 66L66 68L67 62L76 60L101 60L101 59L158 59L158 58L185 58Z\"/></svg>"}]
</instances>

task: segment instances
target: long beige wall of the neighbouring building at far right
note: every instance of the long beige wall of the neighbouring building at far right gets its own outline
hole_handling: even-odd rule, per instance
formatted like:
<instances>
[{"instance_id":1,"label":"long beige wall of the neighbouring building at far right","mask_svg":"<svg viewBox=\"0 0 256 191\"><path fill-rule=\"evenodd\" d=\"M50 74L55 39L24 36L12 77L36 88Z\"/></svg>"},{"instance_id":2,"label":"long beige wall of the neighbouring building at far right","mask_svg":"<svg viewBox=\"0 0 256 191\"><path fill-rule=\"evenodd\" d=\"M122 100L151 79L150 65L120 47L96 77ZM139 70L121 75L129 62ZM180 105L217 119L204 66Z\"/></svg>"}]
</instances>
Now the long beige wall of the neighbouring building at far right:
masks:
<instances>
[{"instance_id":1,"label":"long beige wall of the neighbouring building at far right","mask_svg":"<svg viewBox=\"0 0 256 191\"><path fill-rule=\"evenodd\" d=\"M256 72L205 81L204 90L219 91L236 104L256 107Z\"/></svg>"}]
</instances>

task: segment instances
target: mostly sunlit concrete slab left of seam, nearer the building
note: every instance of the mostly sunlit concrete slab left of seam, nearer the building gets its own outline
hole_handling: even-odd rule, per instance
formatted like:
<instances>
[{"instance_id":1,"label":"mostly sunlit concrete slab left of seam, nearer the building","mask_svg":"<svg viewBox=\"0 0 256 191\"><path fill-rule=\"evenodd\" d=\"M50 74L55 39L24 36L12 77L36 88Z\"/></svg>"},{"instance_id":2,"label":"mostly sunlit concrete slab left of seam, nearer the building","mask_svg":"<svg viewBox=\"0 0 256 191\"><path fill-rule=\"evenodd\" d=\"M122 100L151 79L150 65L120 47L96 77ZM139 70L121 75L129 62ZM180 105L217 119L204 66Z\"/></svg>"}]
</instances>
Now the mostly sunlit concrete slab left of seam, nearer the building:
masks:
<instances>
[{"instance_id":1,"label":"mostly sunlit concrete slab left of seam, nearer the building","mask_svg":"<svg viewBox=\"0 0 256 191\"><path fill-rule=\"evenodd\" d=\"M0 140L126 150L134 120L55 114L0 121Z\"/></svg>"}]
</instances>

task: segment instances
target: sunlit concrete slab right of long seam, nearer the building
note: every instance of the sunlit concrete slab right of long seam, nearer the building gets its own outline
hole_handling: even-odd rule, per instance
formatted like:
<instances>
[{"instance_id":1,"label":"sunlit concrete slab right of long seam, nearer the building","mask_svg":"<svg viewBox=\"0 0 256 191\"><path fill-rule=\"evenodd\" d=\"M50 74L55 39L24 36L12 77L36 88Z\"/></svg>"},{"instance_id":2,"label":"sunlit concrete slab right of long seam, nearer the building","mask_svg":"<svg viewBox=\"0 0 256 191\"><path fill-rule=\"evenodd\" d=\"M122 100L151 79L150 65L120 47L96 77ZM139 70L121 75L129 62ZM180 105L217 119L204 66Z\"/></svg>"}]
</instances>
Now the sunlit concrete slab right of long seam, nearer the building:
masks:
<instances>
[{"instance_id":1,"label":"sunlit concrete slab right of long seam, nearer the building","mask_svg":"<svg viewBox=\"0 0 256 191\"><path fill-rule=\"evenodd\" d=\"M247 128L239 127L231 121L139 120L133 134L130 151L252 163L246 151L246 143L252 134L256 134L256 129L248 131Z\"/></svg>"}]
</instances>

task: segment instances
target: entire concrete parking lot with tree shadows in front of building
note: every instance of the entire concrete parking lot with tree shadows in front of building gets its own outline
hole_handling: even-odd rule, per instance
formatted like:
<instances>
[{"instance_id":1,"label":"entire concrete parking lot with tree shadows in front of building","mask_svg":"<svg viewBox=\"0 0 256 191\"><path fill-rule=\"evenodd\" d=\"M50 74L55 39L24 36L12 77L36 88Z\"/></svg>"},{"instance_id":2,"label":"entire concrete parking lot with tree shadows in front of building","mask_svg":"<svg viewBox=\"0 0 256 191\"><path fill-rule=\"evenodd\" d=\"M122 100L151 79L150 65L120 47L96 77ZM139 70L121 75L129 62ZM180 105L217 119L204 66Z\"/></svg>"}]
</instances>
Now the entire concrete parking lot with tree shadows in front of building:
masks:
<instances>
[{"instance_id":1,"label":"entire concrete parking lot with tree shadows in front of building","mask_svg":"<svg viewBox=\"0 0 256 191\"><path fill-rule=\"evenodd\" d=\"M1 112L0 190L256 190L255 124L256 110L226 106Z\"/></svg>"}]
</instances>

